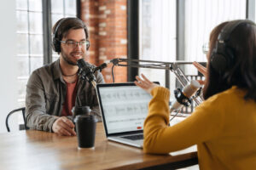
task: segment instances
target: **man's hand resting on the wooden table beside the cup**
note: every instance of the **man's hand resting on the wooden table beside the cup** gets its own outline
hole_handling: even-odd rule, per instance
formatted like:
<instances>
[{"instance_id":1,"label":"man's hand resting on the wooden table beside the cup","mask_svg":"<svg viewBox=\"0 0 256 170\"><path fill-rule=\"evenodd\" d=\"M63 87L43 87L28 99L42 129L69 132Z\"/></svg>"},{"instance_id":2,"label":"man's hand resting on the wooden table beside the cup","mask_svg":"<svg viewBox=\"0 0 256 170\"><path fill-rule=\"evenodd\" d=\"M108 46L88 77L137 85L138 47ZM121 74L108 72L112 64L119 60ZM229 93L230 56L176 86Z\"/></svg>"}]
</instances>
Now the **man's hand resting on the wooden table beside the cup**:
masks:
<instances>
[{"instance_id":1,"label":"man's hand resting on the wooden table beside the cup","mask_svg":"<svg viewBox=\"0 0 256 170\"><path fill-rule=\"evenodd\" d=\"M52 130L61 136L73 136L76 135L74 127L73 122L67 119L66 116L61 116L53 123Z\"/></svg>"}]
</instances>

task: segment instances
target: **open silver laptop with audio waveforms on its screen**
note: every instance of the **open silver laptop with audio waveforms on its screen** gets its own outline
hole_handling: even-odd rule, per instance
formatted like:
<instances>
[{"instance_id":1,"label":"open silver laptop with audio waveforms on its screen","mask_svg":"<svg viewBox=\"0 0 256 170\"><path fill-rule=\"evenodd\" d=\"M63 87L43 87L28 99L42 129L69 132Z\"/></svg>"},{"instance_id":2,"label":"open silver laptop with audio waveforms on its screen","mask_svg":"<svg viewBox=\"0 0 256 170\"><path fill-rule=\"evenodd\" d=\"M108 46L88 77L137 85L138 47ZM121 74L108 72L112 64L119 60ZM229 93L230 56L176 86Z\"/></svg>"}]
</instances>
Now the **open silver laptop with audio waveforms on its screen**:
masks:
<instances>
[{"instance_id":1,"label":"open silver laptop with audio waveforms on its screen","mask_svg":"<svg viewBox=\"0 0 256 170\"><path fill-rule=\"evenodd\" d=\"M107 138L143 148L143 122L151 95L133 82L97 84L96 92Z\"/></svg>"}]
</instances>

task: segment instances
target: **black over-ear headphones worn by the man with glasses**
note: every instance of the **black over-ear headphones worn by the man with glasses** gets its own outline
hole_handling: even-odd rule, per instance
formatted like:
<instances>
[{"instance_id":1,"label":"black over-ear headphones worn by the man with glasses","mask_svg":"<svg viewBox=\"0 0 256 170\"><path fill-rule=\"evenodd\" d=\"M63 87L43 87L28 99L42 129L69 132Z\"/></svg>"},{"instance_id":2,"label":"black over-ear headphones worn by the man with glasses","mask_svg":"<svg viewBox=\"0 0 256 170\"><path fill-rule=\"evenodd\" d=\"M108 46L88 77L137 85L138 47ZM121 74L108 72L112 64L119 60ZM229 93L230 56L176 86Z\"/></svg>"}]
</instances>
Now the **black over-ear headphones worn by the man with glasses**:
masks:
<instances>
[{"instance_id":1,"label":"black over-ear headphones worn by the man with glasses","mask_svg":"<svg viewBox=\"0 0 256 170\"><path fill-rule=\"evenodd\" d=\"M55 52L57 53L61 53L61 40L58 38L58 30L61 27L61 24L64 23L67 20L78 20L79 22L83 23L83 27L84 27L84 32L85 32L85 38L86 38L86 50L89 49L90 47L90 42L88 39L89 37L89 33L88 33L88 29L87 26L84 24L84 21L80 20L79 18L74 18L74 17L68 17L68 18L63 18L59 21L59 23L57 24L57 26L55 26L55 31L53 34L53 39L52 39L52 48L54 49Z\"/></svg>"}]
</instances>

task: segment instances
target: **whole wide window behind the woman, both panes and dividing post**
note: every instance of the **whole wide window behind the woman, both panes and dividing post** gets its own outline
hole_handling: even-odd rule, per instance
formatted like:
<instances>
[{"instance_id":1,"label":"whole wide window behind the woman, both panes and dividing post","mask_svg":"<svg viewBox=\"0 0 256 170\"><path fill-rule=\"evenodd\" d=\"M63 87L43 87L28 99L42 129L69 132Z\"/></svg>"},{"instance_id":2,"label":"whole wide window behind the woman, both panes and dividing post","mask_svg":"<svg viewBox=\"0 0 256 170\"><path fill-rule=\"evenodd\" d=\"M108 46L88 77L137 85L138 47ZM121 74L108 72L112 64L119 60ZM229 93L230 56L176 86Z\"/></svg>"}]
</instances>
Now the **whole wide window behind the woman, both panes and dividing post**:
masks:
<instances>
[{"instance_id":1,"label":"whole wide window behind the woman, both panes and dividing post","mask_svg":"<svg viewBox=\"0 0 256 170\"><path fill-rule=\"evenodd\" d=\"M208 42L212 28L224 20L246 19L246 9L246 0L140 0L140 59L206 62L202 45ZM197 74L191 65L183 71ZM165 71L139 72L165 85ZM170 80L173 91L172 73Z\"/></svg>"}]
</instances>

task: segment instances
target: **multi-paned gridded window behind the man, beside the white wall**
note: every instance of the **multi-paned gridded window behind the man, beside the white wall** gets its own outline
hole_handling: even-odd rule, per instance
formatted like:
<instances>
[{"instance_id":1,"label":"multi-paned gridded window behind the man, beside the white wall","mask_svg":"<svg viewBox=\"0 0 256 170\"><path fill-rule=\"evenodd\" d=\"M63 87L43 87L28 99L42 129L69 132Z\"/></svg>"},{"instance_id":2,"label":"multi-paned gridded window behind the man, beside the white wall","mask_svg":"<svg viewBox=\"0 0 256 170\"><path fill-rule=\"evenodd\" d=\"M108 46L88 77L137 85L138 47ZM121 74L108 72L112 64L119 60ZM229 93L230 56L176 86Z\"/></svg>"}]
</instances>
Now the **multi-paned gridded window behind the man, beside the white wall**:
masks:
<instances>
[{"instance_id":1,"label":"multi-paned gridded window behind the man, beside the white wall","mask_svg":"<svg viewBox=\"0 0 256 170\"><path fill-rule=\"evenodd\" d=\"M43 10L43 3L50 4L51 9L45 8ZM44 17L45 14L47 17ZM46 44L50 46L52 36L51 33L50 35L47 33L43 26L47 25L51 30L57 20L62 17L76 17L76 15L77 1L74 0L16 0L16 58L19 67L17 100L20 107L25 105L26 82L32 71L44 65L46 60L44 56L52 54L50 56L52 60L58 59L56 53L49 53L49 51L44 50L44 37L49 37L49 42ZM51 50L51 48L49 49Z\"/></svg>"}]
</instances>

